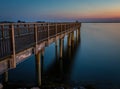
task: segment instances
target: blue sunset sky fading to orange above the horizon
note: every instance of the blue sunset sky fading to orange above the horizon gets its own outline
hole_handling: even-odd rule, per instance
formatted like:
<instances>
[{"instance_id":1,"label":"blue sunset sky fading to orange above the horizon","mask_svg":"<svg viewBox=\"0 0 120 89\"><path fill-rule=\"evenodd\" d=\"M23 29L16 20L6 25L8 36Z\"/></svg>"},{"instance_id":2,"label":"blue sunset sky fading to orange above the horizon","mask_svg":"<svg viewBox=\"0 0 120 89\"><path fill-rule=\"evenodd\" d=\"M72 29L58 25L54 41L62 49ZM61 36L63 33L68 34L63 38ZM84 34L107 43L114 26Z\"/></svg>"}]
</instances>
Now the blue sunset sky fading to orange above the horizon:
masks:
<instances>
[{"instance_id":1,"label":"blue sunset sky fading to orange above the horizon","mask_svg":"<svg viewBox=\"0 0 120 89\"><path fill-rule=\"evenodd\" d=\"M0 0L0 21L120 18L120 0Z\"/></svg>"}]
</instances>

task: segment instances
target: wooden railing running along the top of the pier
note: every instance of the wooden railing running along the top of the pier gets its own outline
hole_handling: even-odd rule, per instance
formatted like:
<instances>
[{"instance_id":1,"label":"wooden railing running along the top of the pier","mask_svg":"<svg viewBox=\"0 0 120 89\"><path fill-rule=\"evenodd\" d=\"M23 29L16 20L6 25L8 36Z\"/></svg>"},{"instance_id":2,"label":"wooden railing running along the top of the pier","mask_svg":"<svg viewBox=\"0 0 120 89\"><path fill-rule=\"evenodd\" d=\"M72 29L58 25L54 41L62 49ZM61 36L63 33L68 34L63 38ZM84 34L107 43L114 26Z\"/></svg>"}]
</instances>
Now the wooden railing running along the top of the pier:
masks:
<instances>
[{"instance_id":1,"label":"wooden railing running along the top of the pier","mask_svg":"<svg viewBox=\"0 0 120 89\"><path fill-rule=\"evenodd\" d=\"M79 26L80 23L78 22L0 23L0 58L1 55L4 56L4 54L8 52L7 50L9 50L8 54L13 53L11 49L14 39L15 41L17 41L13 42L15 43L14 45L17 52L18 50L24 48L22 46L29 47L30 44L34 44L36 42L35 38L38 42L40 42L43 39L49 39L58 34L62 34L63 32L73 31L75 28L79 28ZM24 43L24 41L26 43ZM19 46L18 44L21 44L21 46ZM3 53L1 53L1 51L3 51Z\"/></svg>"}]
</instances>

